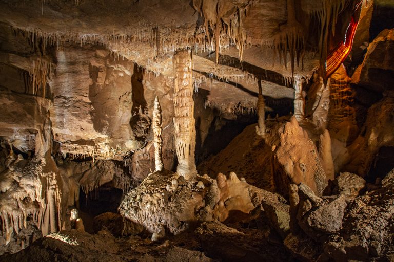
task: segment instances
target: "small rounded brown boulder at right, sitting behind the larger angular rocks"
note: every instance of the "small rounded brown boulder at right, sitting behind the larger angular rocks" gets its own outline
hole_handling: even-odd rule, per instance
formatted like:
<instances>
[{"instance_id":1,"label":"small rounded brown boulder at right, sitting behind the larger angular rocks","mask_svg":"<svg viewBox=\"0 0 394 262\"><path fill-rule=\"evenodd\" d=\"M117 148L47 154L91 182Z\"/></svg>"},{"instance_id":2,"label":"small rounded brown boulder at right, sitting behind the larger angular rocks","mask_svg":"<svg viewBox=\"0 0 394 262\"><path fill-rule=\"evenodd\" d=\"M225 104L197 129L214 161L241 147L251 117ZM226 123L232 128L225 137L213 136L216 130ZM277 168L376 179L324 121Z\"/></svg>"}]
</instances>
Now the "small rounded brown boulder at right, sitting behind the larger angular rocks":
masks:
<instances>
[{"instance_id":1,"label":"small rounded brown boulder at right, sitting behind the larger angular rocks","mask_svg":"<svg viewBox=\"0 0 394 262\"><path fill-rule=\"evenodd\" d=\"M365 180L357 174L343 172L333 181L333 185L332 193L345 195L346 201L349 202L358 197L360 190L365 186Z\"/></svg>"}]
</instances>

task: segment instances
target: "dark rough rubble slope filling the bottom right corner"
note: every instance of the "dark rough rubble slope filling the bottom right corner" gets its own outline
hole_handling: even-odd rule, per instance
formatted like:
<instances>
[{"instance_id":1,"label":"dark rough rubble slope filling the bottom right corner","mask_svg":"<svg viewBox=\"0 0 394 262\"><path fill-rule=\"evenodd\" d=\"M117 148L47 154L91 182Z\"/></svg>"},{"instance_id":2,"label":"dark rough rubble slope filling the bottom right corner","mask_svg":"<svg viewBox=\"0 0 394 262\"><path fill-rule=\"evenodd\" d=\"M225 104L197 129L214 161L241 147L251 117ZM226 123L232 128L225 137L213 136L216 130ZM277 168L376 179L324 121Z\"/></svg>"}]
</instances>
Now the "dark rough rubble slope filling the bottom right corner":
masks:
<instances>
[{"instance_id":1,"label":"dark rough rubble slope filling the bottom right corner","mask_svg":"<svg viewBox=\"0 0 394 262\"><path fill-rule=\"evenodd\" d=\"M350 202L339 237L325 244L325 252L334 260L390 260L394 253L394 179L385 186Z\"/></svg>"}]
</instances>

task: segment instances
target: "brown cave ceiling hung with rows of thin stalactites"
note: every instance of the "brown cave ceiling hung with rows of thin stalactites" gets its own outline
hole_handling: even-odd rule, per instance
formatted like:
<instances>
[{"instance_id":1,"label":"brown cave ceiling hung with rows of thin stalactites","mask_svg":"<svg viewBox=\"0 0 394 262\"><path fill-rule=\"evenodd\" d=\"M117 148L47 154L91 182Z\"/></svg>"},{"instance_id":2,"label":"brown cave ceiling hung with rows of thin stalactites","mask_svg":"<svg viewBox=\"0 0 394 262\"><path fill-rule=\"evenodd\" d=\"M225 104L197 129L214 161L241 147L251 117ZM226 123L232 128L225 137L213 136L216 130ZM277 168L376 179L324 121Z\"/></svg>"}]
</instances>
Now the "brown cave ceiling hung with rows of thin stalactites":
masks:
<instances>
[{"instance_id":1,"label":"brown cave ceiling hung with rows of thin stalactites","mask_svg":"<svg viewBox=\"0 0 394 262\"><path fill-rule=\"evenodd\" d=\"M260 80L263 95L293 98L291 77L310 78L321 60L317 38L324 29L311 24L328 19L327 13L336 24L336 15L352 3L296 1L290 23L284 0L1 1L0 22L23 32L35 52L67 42L103 45L112 56L170 80L174 51L189 48L195 85L207 90L210 102L255 104ZM302 46L298 40L294 47L281 44L281 37L300 34ZM300 61L292 62L288 48Z\"/></svg>"}]
</instances>

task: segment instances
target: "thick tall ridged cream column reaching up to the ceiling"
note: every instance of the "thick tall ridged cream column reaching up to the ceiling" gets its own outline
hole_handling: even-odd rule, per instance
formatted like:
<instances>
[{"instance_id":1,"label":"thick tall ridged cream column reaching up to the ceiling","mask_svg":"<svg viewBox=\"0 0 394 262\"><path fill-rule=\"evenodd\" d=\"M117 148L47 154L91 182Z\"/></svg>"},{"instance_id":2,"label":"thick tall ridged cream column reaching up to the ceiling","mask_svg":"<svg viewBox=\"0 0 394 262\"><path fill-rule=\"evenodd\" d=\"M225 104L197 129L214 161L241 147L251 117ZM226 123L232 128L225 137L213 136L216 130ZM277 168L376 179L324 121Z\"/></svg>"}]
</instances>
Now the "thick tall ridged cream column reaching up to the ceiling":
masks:
<instances>
[{"instance_id":1,"label":"thick tall ridged cream column reaching up to the ceiling","mask_svg":"<svg viewBox=\"0 0 394 262\"><path fill-rule=\"evenodd\" d=\"M191 179L197 174L194 162L195 120L191 53L187 50L179 51L174 54L172 63L175 74L174 127L178 157L176 172L185 179Z\"/></svg>"}]
</instances>

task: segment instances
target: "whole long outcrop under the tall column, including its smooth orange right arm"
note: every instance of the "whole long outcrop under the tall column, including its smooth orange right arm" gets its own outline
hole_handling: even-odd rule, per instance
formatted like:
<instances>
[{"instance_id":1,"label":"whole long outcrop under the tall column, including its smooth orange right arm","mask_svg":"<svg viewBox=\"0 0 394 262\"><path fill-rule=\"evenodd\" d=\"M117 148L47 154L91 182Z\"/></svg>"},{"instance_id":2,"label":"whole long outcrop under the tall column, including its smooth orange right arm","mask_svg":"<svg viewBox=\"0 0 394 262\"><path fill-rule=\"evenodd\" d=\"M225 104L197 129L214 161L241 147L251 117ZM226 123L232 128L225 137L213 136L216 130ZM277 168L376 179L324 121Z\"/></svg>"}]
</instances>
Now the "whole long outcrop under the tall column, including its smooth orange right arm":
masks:
<instances>
[{"instance_id":1,"label":"whole long outcrop under the tall column, including its smooth orange right arm","mask_svg":"<svg viewBox=\"0 0 394 262\"><path fill-rule=\"evenodd\" d=\"M164 226L179 234L197 222L225 221L233 210L248 214L258 208L281 236L288 234L288 205L279 194L251 186L233 172L228 178L220 173L216 180L197 179L200 181L185 181L178 173L152 173L122 201L121 215L151 233L159 233ZM206 186L198 187L200 182Z\"/></svg>"}]
</instances>

